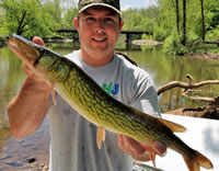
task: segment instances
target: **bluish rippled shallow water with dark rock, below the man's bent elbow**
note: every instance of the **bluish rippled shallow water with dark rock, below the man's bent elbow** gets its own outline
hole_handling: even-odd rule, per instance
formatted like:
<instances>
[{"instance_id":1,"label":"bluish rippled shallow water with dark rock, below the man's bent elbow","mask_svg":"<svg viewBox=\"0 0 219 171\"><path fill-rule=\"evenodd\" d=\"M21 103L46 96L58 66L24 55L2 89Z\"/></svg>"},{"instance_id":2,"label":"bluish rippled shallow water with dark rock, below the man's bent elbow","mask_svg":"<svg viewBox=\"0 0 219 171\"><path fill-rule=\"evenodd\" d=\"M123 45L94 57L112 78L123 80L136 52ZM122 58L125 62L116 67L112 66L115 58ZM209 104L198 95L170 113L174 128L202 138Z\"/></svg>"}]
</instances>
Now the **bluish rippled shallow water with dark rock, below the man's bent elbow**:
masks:
<instances>
[{"instance_id":1,"label":"bluish rippled shallow water with dark rock, below the man's bent elbow","mask_svg":"<svg viewBox=\"0 0 219 171\"><path fill-rule=\"evenodd\" d=\"M35 134L22 139L11 137L5 141L3 148L0 149L0 170L39 170L48 163L48 121L45 119Z\"/></svg>"}]
</instances>

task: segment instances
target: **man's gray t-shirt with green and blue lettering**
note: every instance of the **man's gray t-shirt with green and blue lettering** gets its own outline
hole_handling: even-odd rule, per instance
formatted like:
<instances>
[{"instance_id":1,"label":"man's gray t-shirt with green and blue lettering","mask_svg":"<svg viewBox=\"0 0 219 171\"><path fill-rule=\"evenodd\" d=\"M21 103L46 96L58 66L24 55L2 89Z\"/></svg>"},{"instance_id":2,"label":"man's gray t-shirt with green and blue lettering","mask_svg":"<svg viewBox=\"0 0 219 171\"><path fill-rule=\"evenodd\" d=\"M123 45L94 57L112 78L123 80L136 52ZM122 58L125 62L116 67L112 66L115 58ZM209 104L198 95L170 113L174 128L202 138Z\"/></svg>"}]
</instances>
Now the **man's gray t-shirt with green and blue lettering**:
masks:
<instances>
[{"instance_id":1,"label":"man's gray t-shirt with green and blue lettering","mask_svg":"<svg viewBox=\"0 0 219 171\"><path fill-rule=\"evenodd\" d=\"M148 114L160 116L157 92L148 72L123 57L102 67L81 60L79 50L67 58L81 67L113 98ZM118 149L116 134L106 130L99 149L96 126L79 115L61 96L48 112L50 125L50 171L131 171L132 158Z\"/></svg>"}]
</instances>

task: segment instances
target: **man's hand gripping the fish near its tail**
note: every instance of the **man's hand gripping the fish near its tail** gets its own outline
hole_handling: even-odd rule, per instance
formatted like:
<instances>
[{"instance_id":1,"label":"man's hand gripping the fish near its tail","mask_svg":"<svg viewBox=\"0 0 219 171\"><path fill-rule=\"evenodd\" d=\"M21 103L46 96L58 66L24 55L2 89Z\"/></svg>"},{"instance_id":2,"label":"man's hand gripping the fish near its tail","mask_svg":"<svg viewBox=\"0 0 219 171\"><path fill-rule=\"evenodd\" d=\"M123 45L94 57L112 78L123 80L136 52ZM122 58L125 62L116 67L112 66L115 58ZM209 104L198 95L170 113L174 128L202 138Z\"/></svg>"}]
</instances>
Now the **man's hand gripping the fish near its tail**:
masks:
<instances>
[{"instance_id":1,"label":"man's hand gripping the fish near its tail","mask_svg":"<svg viewBox=\"0 0 219 171\"><path fill-rule=\"evenodd\" d=\"M166 146L161 141L154 140L150 147L146 145L141 145L135 139L124 136L117 135L118 138L118 147L124 151L129 153L134 159L139 161L149 161L149 155L147 152L147 148L152 149L157 155L164 156L166 152Z\"/></svg>"}]
</instances>

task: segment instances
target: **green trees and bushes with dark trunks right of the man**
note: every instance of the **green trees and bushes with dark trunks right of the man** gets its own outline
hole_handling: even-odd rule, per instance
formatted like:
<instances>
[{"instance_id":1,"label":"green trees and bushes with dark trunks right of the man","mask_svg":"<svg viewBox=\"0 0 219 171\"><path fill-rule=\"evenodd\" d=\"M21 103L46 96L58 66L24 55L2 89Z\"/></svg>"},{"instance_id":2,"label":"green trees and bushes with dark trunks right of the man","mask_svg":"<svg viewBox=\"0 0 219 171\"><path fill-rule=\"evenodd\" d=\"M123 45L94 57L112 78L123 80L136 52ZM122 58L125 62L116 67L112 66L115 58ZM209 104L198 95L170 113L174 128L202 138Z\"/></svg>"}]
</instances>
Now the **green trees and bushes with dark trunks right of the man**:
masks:
<instances>
[{"instance_id":1,"label":"green trees and bushes with dark trunks right of the man","mask_svg":"<svg viewBox=\"0 0 219 171\"><path fill-rule=\"evenodd\" d=\"M128 9L123 16L124 30L148 30L166 53L219 53L219 1L159 0L158 7Z\"/></svg>"}]
</instances>

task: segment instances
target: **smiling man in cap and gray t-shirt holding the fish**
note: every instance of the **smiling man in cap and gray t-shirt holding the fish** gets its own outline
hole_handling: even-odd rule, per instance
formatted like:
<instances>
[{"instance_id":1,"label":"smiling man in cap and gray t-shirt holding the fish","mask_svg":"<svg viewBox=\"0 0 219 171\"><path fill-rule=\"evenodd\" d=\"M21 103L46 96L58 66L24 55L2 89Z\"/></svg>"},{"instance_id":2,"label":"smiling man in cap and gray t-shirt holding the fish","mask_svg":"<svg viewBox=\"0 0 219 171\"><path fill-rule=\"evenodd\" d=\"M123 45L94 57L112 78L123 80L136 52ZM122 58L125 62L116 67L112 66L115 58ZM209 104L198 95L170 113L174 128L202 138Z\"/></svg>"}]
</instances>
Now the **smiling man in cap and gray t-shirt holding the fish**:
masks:
<instances>
[{"instance_id":1,"label":"smiling man in cap and gray t-shirt holding the fish","mask_svg":"<svg viewBox=\"0 0 219 171\"><path fill-rule=\"evenodd\" d=\"M114 53L124 24L119 1L80 0L79 15L73 22L81 49L67 57L115 99L160 116L150 76ZM35 38L34 42L43 45L42 39ZM110 132L102 148L97 149L96 126L81 117L58 94L57 104L53 105L49 99L53 88L33 73L33 70L37 71L35 68L23 66L23 70L27 77L18 96L8 106L11 130L18 138L27 136L48 116L51 138L49 170L130 171L132 158L149 160L142 145ZM160 156L166 150L160 141L152 142L151 147Z\"/></svg>"}]
</instances>

